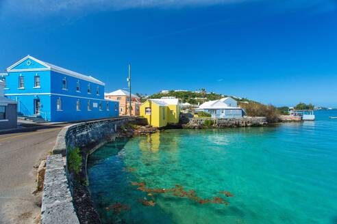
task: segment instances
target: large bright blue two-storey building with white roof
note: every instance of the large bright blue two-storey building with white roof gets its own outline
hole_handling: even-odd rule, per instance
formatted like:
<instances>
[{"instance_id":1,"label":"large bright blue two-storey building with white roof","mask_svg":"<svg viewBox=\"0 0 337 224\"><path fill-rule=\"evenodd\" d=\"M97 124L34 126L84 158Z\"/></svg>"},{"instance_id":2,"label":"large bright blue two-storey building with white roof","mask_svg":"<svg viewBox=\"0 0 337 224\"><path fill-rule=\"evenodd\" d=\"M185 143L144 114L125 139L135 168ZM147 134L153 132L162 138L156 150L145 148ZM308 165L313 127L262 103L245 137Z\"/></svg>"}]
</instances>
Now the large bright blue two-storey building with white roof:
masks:
<instances>
[{"instance_id":1,"label":"large bright blue two-storey building with white roof","mask_svg":"<svg viewBox=\"0 0 337 224\"><path fill-rule=\"evenodd\" d=\"M104 98L101 81L27 56L1 74L18 112L50 122L118 117L118 101Z\"/></svg>"}]
</instances>

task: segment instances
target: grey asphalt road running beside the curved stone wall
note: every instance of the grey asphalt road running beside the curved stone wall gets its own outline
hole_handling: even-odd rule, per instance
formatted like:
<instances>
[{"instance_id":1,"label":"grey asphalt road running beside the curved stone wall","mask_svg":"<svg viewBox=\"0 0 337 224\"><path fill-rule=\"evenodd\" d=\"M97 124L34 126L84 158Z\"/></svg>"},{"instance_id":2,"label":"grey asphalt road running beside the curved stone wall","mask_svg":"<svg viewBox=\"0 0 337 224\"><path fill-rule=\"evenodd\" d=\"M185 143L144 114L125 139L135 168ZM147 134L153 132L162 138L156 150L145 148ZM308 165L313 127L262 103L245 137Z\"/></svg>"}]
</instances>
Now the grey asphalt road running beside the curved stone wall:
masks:
<instances>
[{"instance_id":1,"label":"grey asphalt road running beside the curved stone wall","mask_svg":"<svg viewBox=\"0 0 337 224\"><path fill-rule=\"evenodd\" d=\"M68 124L38 126L0 135L0 223L36 223L42 194L36 189L36 170L51 152L58 132Z\"/></svg>"}]
</instances>

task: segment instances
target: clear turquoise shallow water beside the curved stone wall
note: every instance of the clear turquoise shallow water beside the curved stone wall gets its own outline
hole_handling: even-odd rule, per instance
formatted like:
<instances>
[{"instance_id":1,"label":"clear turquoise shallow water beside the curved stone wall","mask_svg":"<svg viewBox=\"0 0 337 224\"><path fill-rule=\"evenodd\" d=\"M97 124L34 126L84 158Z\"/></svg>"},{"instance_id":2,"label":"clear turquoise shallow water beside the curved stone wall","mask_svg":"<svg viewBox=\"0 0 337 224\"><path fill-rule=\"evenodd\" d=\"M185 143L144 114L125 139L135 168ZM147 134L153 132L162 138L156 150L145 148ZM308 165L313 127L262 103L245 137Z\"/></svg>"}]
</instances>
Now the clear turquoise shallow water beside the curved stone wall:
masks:
<instances>
[{"instance_id":1,"label":"clear turquoise shallow water beside the curved stone wall","mask_svg":"<svg viewBox=\"0 0 337 224\"><path fill-rule=\"evenodd\" d=\"M337 120L329 116L337 111L316 111L315 122L166 130L110 143L88 160L92 199L103 223L337 223ZM138 199L151 197L131 182L235 196L225 206L153 193L147 207ZM131 209L105 210L116 202Z\"/></svg>"}]
</instances>

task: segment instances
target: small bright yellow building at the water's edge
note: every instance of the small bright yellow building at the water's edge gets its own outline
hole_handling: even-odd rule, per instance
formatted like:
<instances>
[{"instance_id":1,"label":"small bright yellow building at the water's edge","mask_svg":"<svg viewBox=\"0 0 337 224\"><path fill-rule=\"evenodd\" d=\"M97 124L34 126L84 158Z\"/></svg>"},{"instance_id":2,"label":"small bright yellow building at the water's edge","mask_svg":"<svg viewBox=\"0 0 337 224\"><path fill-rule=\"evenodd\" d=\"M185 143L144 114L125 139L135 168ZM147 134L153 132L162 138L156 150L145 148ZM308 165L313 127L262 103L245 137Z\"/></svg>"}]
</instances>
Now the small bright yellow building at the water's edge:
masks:
<instances>
[{"instance_id":1,"label":"small bright yellow building at the water's edge","mask_svg":"<svg viewBox=\"0 0 337 224\"><path fill-rule=\"evenodd\" d=\"M164 127L179 123L180 107L176 98L149 99L140 106L140 115L147 118L149 125Z\"/></svg>"}]
</instances>

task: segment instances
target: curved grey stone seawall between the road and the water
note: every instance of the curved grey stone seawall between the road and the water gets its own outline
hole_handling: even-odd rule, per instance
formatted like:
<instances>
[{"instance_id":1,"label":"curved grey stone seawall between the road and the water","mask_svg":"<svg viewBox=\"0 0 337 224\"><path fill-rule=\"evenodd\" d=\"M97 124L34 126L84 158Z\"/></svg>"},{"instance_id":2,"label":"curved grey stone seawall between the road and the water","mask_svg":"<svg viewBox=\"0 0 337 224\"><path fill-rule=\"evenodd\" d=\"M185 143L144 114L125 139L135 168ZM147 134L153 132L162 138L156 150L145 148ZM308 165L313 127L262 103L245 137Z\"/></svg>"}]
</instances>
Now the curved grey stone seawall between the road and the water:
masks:
<instances>
[{"instance_id":1,"label":"curved grey stone seawall between the road and the water","mask_svg":"<svg viewBox=\"0 0 337 224\"><path fill-rule=\"evenodd\" d=\"M66 126L60 131L53 148L53 155L47 158L41 210L42 224L101 223L87 188L88 154L105 143L113 141L121 126L133 121L134 119L129 117L96 120ZM68 153L74 148L79 148L79 156L82 158L82 167L78 173L69 171L68 163L65 167L63 162L62 165L60 163L60 158L62 160L62 156L66 156L67 160ZM52 166L54 163L58 165L57 172ZM58 197L53 197L55 194ZM55 213L60 211L62 214ZM58 219L53 218L57 215Z\"/></svg>"}]
</instances>

